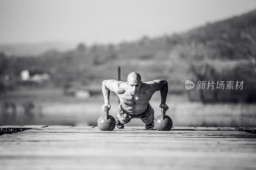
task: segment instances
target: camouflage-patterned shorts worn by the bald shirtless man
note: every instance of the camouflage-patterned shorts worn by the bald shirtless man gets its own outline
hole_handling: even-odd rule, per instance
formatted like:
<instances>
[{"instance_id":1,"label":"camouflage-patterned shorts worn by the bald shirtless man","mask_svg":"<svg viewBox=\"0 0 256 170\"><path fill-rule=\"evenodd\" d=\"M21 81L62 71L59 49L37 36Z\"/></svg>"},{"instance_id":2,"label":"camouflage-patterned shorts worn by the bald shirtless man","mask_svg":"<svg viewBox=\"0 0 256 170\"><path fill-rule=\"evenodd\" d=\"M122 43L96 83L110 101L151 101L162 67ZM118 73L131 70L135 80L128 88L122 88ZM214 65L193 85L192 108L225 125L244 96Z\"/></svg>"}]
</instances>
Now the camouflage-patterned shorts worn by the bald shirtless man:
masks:
<instances>
[{"instance_id":1,"label":"camouflage-patterned shorts worn by the bald shirtless man","mask_svg":"<svg viewBox=\"0 0 256 170\"><path fill-rule=\"evenodd\" d=\"M116 113L117 113L118 120L123 124L130 122L130 120L133 118L140 118L141 121L145 124L150 124L154 120L154 109L150 106L149 103L148 103L148 109L143 114L138 116L130 115L124 109L122 110L121 107L122 106L120 103L119 106L117 107Z\"/></svg>"}]
</instances>

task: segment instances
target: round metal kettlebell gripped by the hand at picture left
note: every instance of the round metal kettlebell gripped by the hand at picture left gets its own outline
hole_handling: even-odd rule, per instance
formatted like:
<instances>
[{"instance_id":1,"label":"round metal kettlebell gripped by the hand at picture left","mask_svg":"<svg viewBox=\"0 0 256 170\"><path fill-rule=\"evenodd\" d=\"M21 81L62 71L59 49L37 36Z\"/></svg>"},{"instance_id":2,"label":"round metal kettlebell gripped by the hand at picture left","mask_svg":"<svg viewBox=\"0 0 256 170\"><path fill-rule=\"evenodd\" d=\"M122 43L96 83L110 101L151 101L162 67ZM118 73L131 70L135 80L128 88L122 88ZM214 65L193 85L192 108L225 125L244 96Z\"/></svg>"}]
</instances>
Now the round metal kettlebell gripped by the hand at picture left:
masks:
<instances>
[{"instance_id":1,"label":"round metal kettlebell gripped by the hand at picture left","mask_svg":"<svg viewBox=\"0 0 256 170\"><path fill-rule=\"evenodd\" d=\"M105 114L98 119L98 127L100 130L113 130L116 126L116 120L113 116L108 115L109 108L105 107Z\"/></svg>"}]
</instances>

